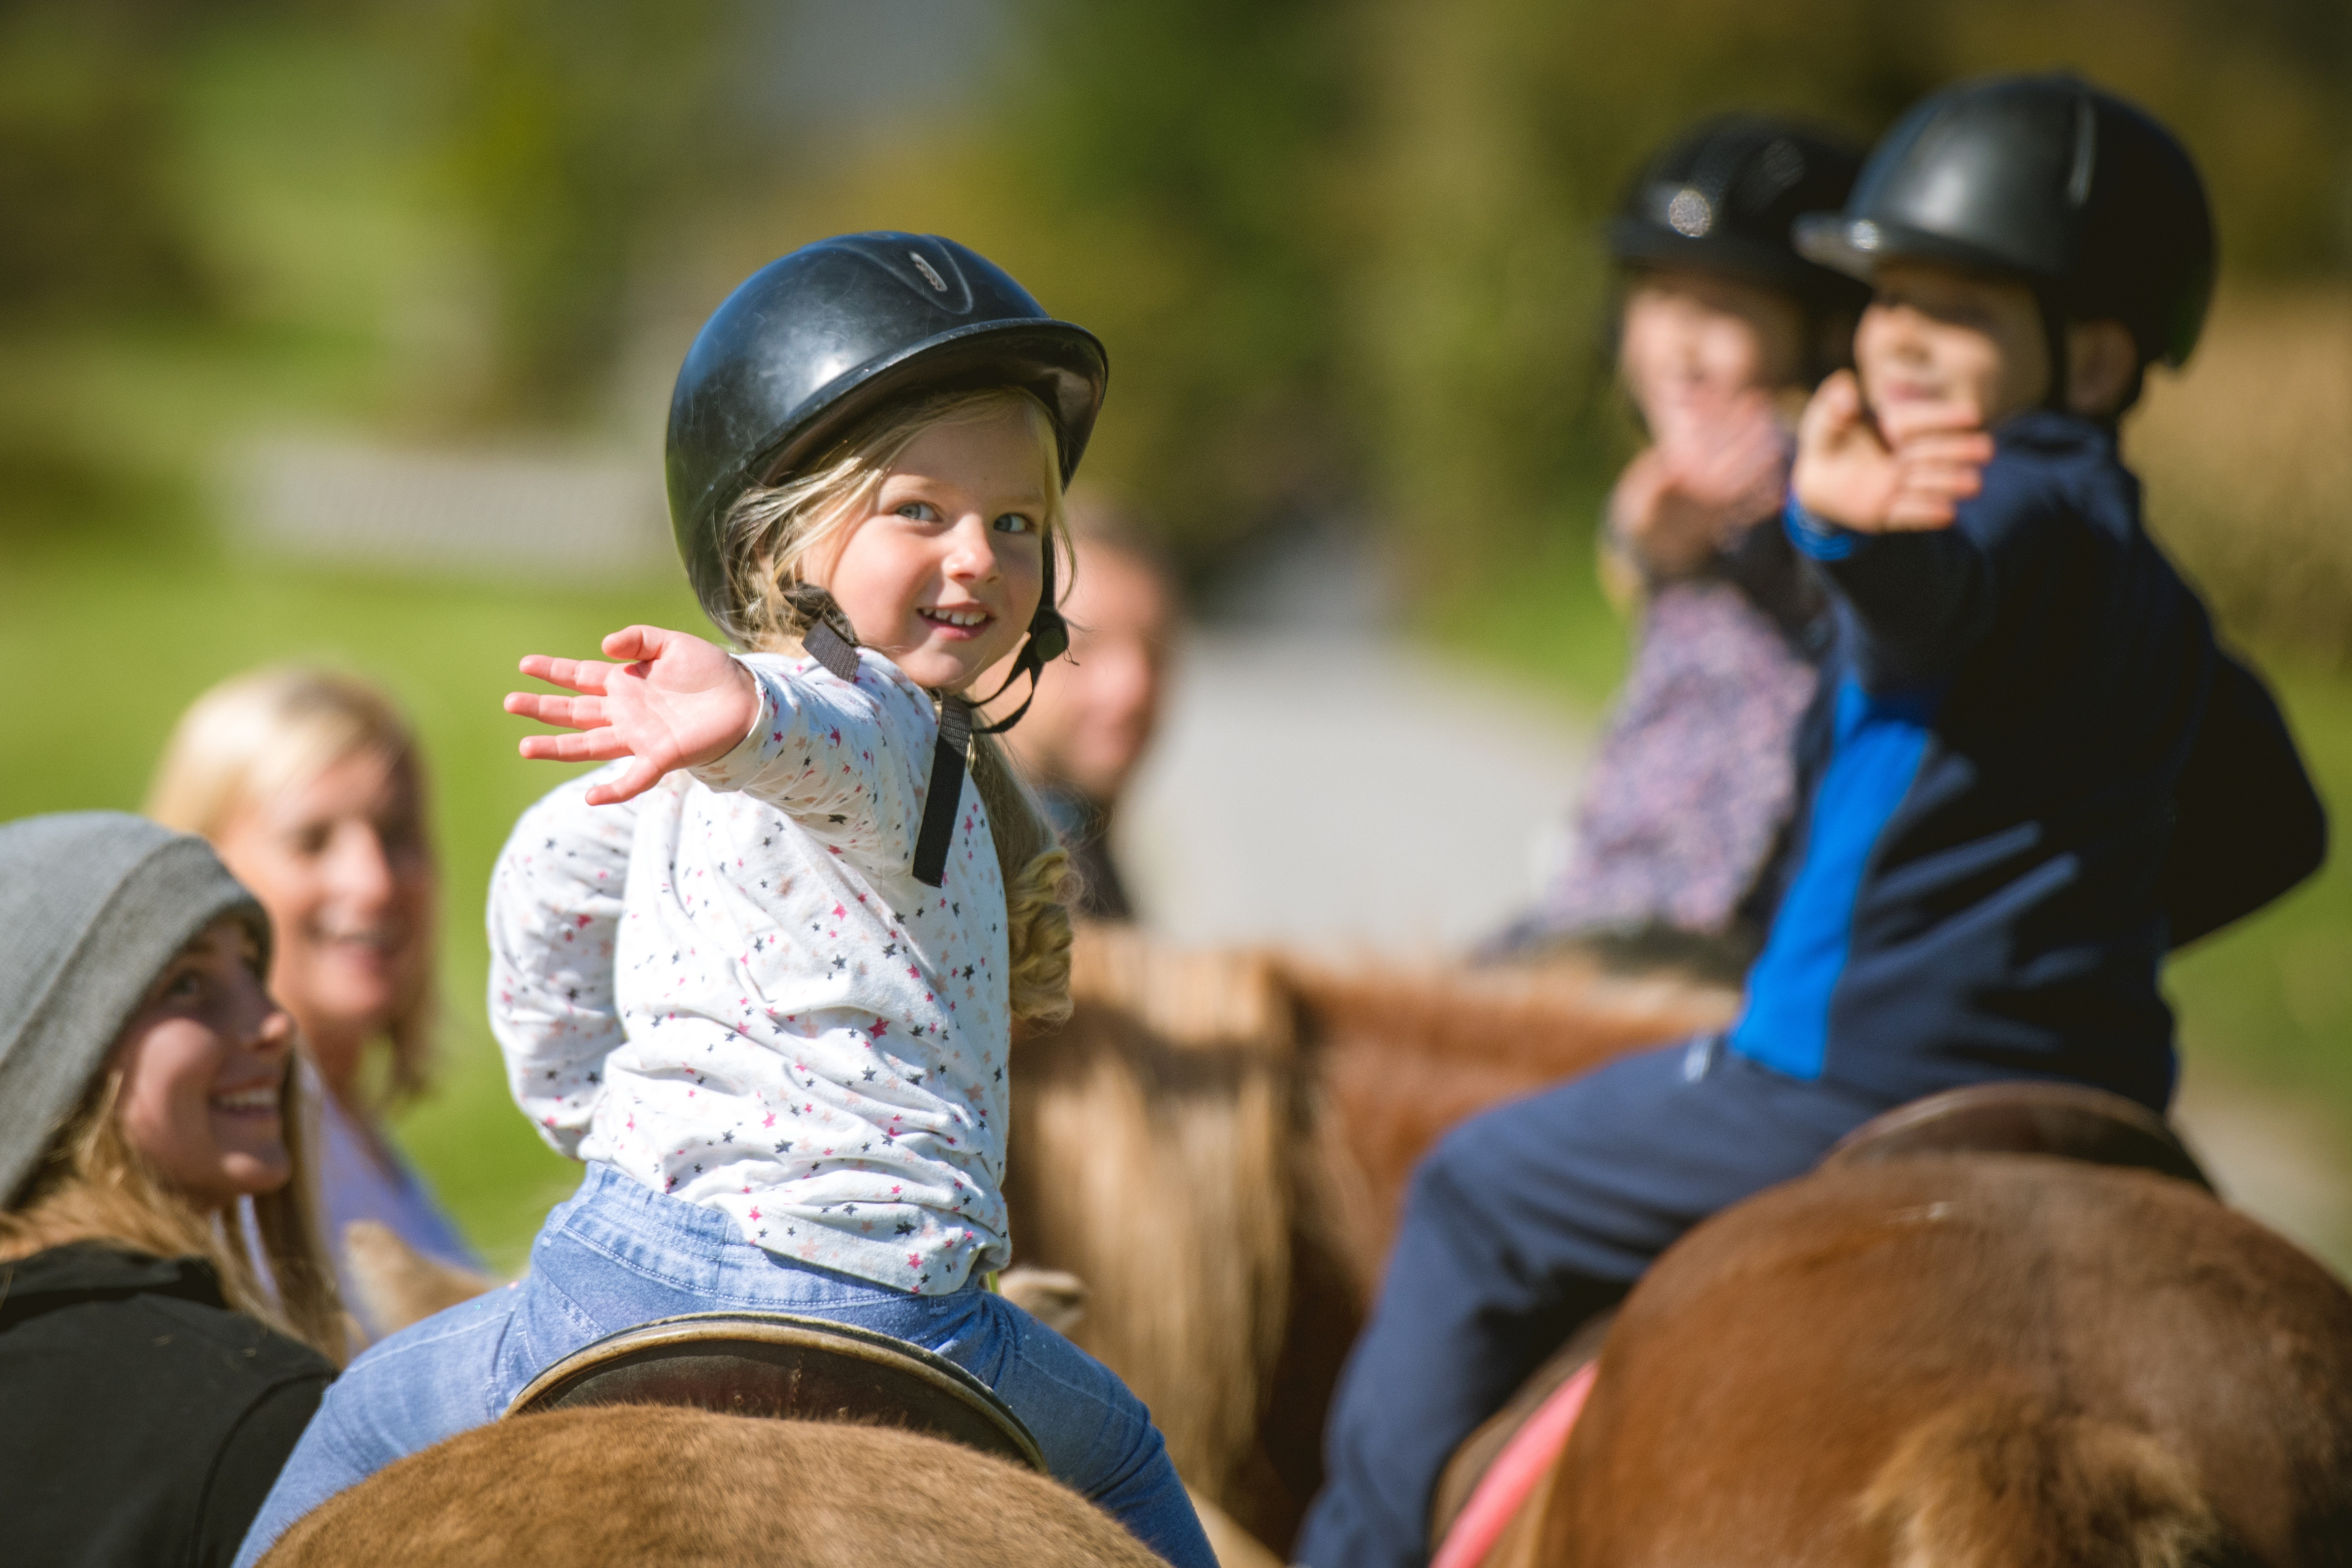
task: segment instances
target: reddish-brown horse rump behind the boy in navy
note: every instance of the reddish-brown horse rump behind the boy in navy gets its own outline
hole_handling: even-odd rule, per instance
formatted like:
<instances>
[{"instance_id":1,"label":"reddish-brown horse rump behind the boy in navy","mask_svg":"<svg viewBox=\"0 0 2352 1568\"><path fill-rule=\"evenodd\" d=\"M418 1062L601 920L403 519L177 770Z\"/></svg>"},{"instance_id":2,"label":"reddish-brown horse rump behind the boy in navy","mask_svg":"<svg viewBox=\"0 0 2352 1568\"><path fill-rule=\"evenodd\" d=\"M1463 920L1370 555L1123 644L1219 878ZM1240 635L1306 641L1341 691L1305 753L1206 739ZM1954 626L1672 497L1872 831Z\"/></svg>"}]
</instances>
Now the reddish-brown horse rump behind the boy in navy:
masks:
<instances>
[{"instance_id":1,"label":"reddish-brown horse rump behind the boy in navy","mask_svg":"<svg viewBox=\"0 0 2352 1568\"><path fill-rule=\"evenodd\" d=\"M2347 1563L2352 1295L2164 1175L1823 1171L1625 1302L1541 1537L1684 1568Z\"/></svg>"}]
</instances>

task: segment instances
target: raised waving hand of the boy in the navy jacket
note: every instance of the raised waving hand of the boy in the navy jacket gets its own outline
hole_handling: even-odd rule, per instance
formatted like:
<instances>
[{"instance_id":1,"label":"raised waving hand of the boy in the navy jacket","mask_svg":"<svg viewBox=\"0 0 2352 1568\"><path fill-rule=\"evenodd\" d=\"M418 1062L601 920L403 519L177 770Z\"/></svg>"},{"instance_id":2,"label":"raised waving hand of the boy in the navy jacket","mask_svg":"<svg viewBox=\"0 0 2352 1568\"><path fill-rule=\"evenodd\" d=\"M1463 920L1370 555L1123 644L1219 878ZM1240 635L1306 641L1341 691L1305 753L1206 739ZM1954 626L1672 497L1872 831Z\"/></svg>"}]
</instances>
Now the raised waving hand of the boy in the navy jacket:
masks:
<instances>
[{"instance_id":1,"label":"raised waving hand of the boy in the navy jacket","mask_svg":"<svg viewBox=\"0 0 2352 1568\"><path fill-rule=\"evenodd\" d=\"M1947 529L1983 489L1992 437L1957 402L1900 402L1872 421L1853 371L1820 383L1797 425L1797 503L1856 534Z\"/></svg>"}]
</instances>

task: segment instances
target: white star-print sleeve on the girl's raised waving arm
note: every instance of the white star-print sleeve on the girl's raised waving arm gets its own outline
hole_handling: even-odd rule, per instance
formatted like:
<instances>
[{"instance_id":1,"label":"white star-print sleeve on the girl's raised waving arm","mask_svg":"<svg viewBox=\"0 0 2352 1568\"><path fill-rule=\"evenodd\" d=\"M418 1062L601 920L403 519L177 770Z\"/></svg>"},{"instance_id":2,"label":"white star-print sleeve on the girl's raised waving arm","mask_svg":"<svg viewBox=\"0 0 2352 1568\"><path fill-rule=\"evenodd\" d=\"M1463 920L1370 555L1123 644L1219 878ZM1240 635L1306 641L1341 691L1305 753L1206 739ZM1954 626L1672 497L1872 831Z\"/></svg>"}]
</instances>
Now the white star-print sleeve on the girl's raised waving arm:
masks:
<instances>
[{"instance_id":1,"label":"white star-print sleeve on the girl's raised waving arm","mask_svg":"<svg viewBox=\"0 0 2352 1568\"><path fill-rule=\"evenodd\" d=\"M929 698L880 656L844 682L816 661L753 656L760 722L731 752L694 769L790 816L868 872L903 872L938 733Z\"/></svg>"}]
</instances>

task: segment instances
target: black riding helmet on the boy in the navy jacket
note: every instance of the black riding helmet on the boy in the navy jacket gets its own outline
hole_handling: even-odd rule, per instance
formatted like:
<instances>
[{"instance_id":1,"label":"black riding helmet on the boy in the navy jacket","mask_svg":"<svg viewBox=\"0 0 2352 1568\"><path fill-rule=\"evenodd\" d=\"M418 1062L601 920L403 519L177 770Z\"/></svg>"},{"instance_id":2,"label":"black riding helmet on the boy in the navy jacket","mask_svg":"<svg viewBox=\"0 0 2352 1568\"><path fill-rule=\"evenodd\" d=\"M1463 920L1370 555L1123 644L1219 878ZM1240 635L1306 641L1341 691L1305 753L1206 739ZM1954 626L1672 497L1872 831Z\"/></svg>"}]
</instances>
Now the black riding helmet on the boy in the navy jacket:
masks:
<instances>
[{"instance_id":1,"label":"black riding helmet on the boy in the navy jacket","mask_svg":"<svg viewBox=\"0 0 2352 1568\"><path fill-rule=\"evenodd\" d=\"M1872 148L1844 212L1797 219L1797 249L1863 280L1910 256L2027 282L2053 383L2067 322L2119 320L2143 364L2180 364L2213 299L2213 212L2187 148L2070 73L1922 101Z\"/></svg>"}]
</instances>

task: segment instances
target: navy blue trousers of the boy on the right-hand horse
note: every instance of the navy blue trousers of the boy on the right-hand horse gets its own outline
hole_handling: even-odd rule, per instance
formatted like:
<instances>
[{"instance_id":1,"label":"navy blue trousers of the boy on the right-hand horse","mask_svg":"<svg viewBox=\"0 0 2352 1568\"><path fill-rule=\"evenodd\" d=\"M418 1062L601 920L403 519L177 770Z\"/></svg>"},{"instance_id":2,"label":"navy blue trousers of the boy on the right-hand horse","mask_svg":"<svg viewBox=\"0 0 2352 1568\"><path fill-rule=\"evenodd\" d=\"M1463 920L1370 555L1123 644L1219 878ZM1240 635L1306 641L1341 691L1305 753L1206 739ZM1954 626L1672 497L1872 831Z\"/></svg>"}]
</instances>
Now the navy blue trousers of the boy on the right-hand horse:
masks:
<instances>
[{"instance_id":1,"label":"navy blue trousers of the boy on the right-hand horse","mask_svg":"<svg viewBox=\"0 0 2352 1568\"><path fill-rule=\"evenodd\" d=\"M1886 1110L1719 1039L1621 1058L1472 1117L1421 1161L1341 1375L1305 1568L1416 1568L1454 1448L1682 1232L1809 1171Z\"/></svg>"}]
</instances>

